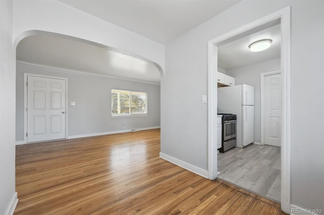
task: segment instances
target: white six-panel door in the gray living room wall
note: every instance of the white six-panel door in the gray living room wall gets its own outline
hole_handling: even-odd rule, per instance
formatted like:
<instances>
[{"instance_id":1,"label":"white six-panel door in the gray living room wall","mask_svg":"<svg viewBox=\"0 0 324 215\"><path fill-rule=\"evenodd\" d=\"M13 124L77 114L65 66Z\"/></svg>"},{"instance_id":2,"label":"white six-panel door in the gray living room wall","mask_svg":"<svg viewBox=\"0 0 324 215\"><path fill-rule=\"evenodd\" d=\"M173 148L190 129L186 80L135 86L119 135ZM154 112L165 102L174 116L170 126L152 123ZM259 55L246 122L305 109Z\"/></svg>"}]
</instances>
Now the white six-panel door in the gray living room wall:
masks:
<instances>
[{"instance_id":1,"label":"white six-panel door in the gray living room wall","mask_svg":"<svg viewBox=\"0 0 324 215\"><path fill-rule=\"evenodd\" d=\"M27 142L65 139L65 80L27 76Z\"/></svg>"}]
</instances>

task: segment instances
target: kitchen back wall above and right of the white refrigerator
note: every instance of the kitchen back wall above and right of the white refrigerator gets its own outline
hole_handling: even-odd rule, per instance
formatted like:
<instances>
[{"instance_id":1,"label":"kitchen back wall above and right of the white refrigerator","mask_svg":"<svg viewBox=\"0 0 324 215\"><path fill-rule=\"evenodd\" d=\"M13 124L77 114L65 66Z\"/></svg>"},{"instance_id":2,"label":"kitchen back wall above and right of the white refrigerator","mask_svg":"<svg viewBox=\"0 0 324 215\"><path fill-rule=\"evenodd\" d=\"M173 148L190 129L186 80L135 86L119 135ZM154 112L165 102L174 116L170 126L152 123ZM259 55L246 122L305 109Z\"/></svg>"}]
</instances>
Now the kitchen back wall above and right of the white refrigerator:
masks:
<instances>
[{"instance_id":1,"label":"kitchen back wall above and right of the white refrigerator","mask_svg":"<svg viewBox=\"0 0 324 215\"><path fill-rule=\"evenodd\" d=\"M280 58L227 70L235 78L235 85L254 86L254 141L261 142L261 78L260 74L280 70Z\"/></svg>"}]
</instances>

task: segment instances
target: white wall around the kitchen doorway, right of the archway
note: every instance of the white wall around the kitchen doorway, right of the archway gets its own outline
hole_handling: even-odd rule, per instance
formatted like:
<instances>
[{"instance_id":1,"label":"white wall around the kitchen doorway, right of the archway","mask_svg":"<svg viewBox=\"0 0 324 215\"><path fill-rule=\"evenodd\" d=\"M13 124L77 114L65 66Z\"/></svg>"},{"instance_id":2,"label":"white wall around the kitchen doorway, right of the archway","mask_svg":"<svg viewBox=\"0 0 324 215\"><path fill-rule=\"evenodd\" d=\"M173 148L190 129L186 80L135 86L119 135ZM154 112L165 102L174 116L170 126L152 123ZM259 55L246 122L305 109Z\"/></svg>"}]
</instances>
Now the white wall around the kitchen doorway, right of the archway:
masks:
<instances>
[{"instance_id":1,"label":"white wall around the kitchen doorway, right of the archway","mask_svg":"<svg viewBox=\"0 0 324 215\"><path fill-rule=\"evenodd\" d=\"M243 0L170 42L161 80L161 152L208 170L208 106L201 103L208 92L207 42L291 5L291 202L323 210L323 4Z\"/></svg>"}]
</instances>

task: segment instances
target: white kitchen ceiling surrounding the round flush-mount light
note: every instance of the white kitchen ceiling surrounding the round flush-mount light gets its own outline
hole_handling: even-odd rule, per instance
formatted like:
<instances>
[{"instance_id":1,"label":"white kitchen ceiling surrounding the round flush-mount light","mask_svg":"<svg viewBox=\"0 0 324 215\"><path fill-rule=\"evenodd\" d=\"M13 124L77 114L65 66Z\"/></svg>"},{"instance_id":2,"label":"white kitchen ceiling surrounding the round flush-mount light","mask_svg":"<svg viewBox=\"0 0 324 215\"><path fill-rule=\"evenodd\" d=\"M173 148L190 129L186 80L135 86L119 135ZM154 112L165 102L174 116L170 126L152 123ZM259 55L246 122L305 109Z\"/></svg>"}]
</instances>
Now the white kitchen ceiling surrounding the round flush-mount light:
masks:
<instances>
[{"instance_id":1,"label":"white kitchen ceiling surrounding the round flush-mount light","mask_svg":"<svg viewBox=\"0 0 324 215\"><path fill-rule=\"evenodd\" d=\"M252 52L249 45L261 39L271 39L271 46L260 52ZM262 61L280 58L281 29L274 25L257 33L218 47L218 67L229 70Z\"/></svg>"}]
</instances>

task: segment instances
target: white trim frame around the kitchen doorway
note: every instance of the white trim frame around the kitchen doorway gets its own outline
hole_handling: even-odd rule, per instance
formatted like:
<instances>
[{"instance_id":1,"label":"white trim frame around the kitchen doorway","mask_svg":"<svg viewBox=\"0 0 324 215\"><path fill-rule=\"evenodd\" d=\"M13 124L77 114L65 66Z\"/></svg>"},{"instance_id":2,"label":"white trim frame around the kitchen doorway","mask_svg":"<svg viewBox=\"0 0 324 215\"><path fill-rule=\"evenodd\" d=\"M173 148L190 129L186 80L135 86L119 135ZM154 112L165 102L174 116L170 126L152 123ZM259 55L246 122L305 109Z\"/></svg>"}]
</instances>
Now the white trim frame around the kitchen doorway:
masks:
<instances>
[{"instance_id":1,"label":"white trim frame around the kitchen doorway","mask_svg":"<svg viewBox=\"0 0 324 215\"><path fill-rule=\"evenodd\" d=\"M290 17L291 8L287 7L260 20L221 35L209 41L209 105L208 105L208 169L209 179L217 177L217 68L218 46L238 38L258 32L278 20L281 22L281 210L290 209Z\"/></svg>"}]
</instances>

